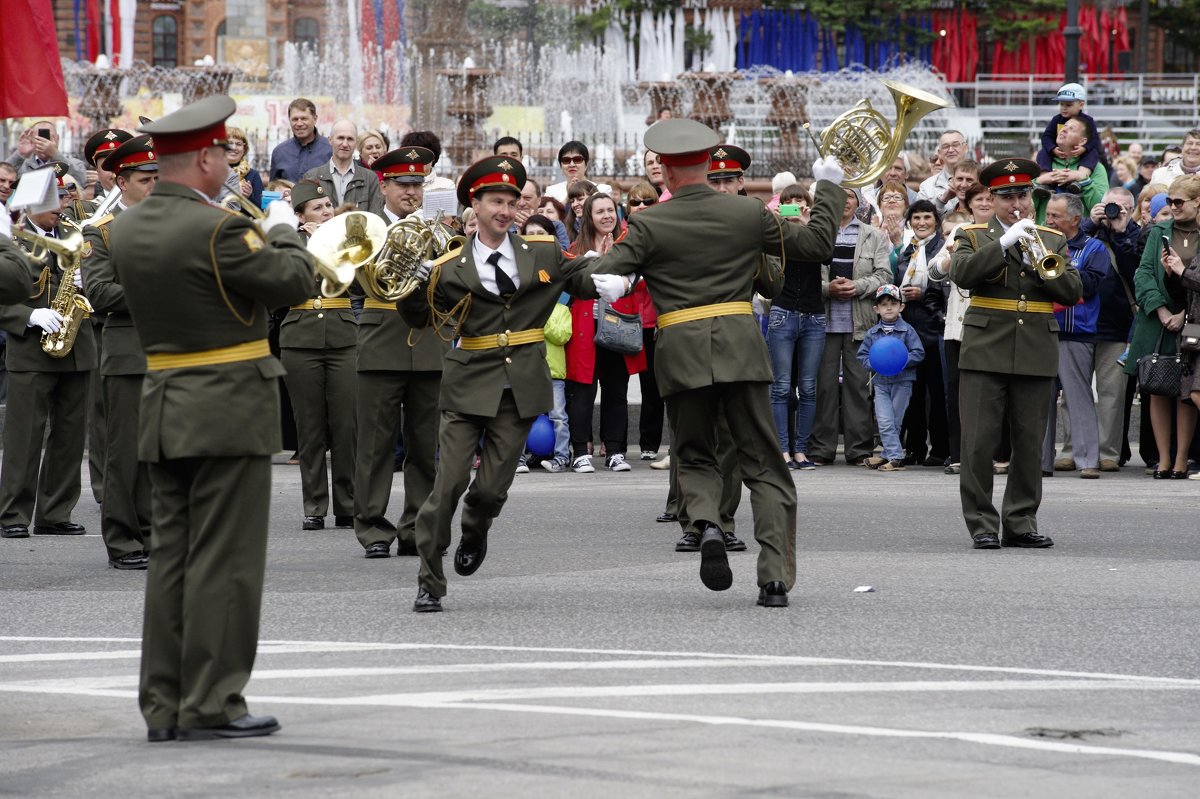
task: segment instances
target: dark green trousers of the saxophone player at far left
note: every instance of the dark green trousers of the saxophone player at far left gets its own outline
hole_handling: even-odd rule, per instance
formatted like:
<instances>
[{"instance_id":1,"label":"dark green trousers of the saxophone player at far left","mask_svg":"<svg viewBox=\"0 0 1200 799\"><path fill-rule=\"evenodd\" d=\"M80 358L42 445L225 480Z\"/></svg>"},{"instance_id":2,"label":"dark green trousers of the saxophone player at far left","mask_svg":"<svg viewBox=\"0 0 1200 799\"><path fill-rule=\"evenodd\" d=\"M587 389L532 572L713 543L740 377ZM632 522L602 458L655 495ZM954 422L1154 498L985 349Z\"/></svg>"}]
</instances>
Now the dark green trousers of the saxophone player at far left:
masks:
<instances>
[{"instance_id":1,"label":"dark green trousers of the saxophone player at far left","mask_svg":"<svg viewBox=\"0 0 1200 799\"><path fill-rule=\"evenodd\" d=\"M79 501L89 376L8 372L0 524L29 524L34 519L36 525L48 527L71 521L71 511Z\"/></svg>"}]
</instances>

